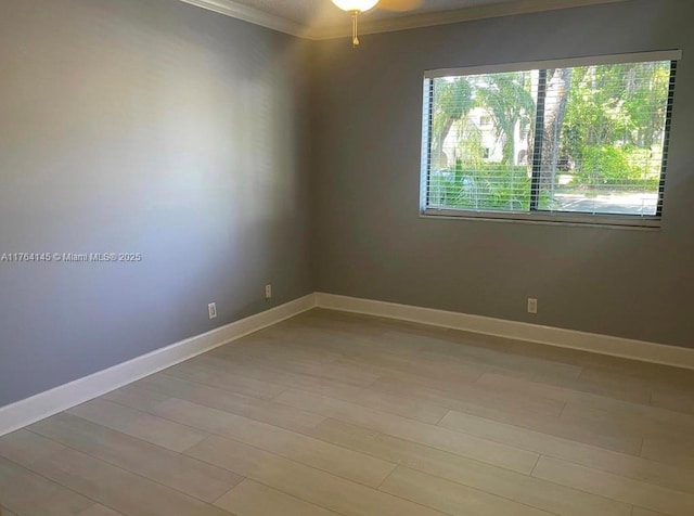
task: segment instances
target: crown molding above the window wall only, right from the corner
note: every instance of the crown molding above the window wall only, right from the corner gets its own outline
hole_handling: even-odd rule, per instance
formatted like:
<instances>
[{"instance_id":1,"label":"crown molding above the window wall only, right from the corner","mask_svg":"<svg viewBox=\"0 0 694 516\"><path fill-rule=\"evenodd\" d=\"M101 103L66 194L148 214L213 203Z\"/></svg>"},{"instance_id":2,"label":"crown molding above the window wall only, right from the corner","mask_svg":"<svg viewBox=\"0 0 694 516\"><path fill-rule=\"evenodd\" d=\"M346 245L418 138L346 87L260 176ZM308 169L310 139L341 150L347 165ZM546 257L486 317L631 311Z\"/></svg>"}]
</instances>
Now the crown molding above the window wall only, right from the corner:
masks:
<instances>
[{"instance_id":1,"label":"crown molding above the window wall only, right from the corner","mask_svg":"<svg viewBox=\"0 0 694 516\"><path fill-rule=\"evenodd\" d=\"M476 20L493 18L500 16L514 16L520 14L538 13L542 11L556 11L560 9L582 8L603 3L617 3L629 0L516 0L492 3L488 5L475 5L450 11L432 13L417 13L394 18L368 20L368 14L360 20L360 34L391 33L420 27L433 27L436 25L450 25ZM314 27L308 29L305 37L313 40L334 39L349 36L349 24L332 27Z\"/></svg>"}]
</instances>

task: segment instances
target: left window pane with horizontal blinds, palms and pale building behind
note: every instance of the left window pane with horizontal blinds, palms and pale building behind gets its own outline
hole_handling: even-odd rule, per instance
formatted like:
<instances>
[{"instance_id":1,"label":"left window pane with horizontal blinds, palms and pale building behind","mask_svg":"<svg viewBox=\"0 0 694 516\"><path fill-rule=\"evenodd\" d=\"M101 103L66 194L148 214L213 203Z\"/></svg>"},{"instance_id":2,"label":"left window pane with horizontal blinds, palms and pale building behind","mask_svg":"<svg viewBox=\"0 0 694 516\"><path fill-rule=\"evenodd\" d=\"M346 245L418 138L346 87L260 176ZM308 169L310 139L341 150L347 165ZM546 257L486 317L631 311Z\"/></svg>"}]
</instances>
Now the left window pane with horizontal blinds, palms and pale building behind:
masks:
<instances>
[{"instance_id":1,"label":"left window pane with horizontal blinds, palms and pale building behind","mask_svg":"<svg viewBox=\"0 0 694 516\"><path fill-rule=\"evenodd\" d=\"M427 80L427 207L527 211L538 74Z\"/></svg>"}]
</instances>

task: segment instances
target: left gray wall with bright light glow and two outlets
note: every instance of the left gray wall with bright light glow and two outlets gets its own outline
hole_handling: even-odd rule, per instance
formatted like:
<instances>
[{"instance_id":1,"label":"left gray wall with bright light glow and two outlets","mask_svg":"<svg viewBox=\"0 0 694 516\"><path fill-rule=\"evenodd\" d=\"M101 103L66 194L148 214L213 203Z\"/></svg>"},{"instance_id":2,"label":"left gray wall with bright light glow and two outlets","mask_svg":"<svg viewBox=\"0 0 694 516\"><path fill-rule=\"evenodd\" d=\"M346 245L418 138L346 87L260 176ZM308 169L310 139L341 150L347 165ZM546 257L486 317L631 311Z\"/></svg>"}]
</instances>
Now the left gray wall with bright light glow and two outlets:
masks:
<instances>
[{"instance_id":1,"label":"left gray wall with bright light glow and two outlets","mask_svg":"<svg viewBox=\"0 0 694 516\"><path fill-rule=\"evenodd\" d=\"M307 44L177 0L0 0L0 254L143 255L0 262L0 407L312 292Z\"/></svg>"}]
</instances>

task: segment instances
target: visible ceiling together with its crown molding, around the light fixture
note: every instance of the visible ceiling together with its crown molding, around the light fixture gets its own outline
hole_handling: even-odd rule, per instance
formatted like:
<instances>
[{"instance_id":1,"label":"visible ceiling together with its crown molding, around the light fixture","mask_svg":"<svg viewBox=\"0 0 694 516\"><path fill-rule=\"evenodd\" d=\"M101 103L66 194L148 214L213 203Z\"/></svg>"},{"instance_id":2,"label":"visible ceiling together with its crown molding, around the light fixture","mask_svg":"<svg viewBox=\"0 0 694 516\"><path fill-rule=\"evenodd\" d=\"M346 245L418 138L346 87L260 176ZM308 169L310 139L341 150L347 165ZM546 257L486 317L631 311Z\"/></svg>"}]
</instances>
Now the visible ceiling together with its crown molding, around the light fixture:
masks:
<instances>
[{"instance_id":1,"label":"visible ceiling together with its crown molding, around the light fixture","mask_svg":"<svg viewBox=\"0 0 694 516\"><path fill-rule=\"evenodd\" d=\"M349 15L331 0L182 1L309 39L347 36L351 29ZM381 0L361 15L360 31L381 33L618 1L626 0ZM398 10L404 5L411 9Z\"/></svg>"}]
</instances>

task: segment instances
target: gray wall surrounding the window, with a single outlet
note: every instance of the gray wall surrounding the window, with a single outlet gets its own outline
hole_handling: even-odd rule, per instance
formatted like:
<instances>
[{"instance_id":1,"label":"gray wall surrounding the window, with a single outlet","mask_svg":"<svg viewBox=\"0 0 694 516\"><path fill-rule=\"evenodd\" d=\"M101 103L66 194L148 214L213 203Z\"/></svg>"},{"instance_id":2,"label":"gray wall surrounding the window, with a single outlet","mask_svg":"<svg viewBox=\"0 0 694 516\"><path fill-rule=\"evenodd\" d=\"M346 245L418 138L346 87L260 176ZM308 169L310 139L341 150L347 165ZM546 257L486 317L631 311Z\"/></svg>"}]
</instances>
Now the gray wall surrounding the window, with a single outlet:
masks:
<instances>
[{"instance_id":1,"label":"gray wall surrounding the window, with a single outlet","mask_svg":"<svg viewBox=\"0 0 694 516\"><path fill-rule=\"evenodd\" d=\"M317 43L318 289L694 347L692 3L363 36L358 51ZM419 217L424 69L661 49L684 59L660 231Z\"/></svg>"}]
</instances>

